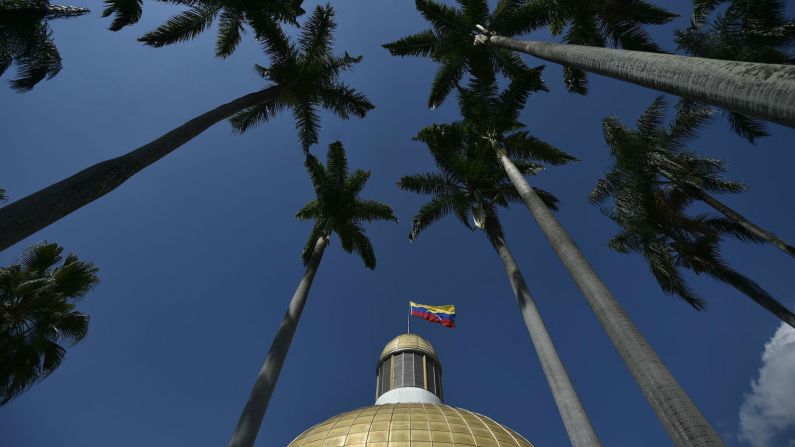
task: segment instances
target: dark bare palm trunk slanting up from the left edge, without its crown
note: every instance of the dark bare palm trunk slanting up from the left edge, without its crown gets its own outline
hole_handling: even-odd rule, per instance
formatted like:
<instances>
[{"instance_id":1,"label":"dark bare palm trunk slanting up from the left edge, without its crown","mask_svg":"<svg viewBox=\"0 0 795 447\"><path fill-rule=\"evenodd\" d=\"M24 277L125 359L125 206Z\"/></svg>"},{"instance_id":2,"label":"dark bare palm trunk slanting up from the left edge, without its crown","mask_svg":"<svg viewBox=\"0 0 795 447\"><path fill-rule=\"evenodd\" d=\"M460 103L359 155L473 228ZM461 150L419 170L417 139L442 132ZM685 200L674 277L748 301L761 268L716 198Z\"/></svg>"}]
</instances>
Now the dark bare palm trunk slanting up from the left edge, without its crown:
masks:
<instances>
[{"instance_id":1,"label":"dark bare palm trunk slanting up from the left edge, without its crown","mask_svg":"<svg viewBox=\"0 0 795 447\"><path fill-rule=\"evenodd\" d=\"M97 163L58 183L0 208L0 251L113 191L127 179L173 152L215 123L262 101L279 86L249 93L197 116L121 157Z\"/></svg>"}]
</instances>

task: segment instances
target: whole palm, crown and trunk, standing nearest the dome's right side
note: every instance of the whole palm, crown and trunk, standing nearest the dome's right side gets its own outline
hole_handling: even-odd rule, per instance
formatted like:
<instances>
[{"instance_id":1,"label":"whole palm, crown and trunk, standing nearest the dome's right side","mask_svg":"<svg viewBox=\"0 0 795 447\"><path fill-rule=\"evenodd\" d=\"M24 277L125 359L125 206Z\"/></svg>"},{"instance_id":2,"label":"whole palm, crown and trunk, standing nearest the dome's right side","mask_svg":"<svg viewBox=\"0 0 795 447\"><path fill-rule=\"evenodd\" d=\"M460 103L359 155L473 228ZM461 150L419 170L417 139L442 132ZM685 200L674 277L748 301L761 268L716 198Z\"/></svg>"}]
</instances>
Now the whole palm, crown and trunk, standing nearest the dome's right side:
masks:
<instances>
[{"instance_id":1,"label":"whole palm, crown and trunk, standing nearest the dome's right side","mask_svg":"<svg viewBox=\"0 0 795 447\"><path fill-rule=\"evenodd\" d=\"M414 217L409 238L413 241L422 230L448 214L458 217L461 223L472 229L469 224L469 216L472 215L475 226L485 231L502 259L572 445L599 446L599 438L580 403L502 232L497 206L507 208L521 198L496 164L494 157L490 156L490 148L484 140L477 136L469 137L466 127L457 123L426 127L415 138L428 145L439 172L409 175L400 180L399 186L404 191L432 195L431 200ZM535 173L543 169L534 157L532 140L525 138L521 143L517 141L512 148L517 149L513 155L522 166L523 172ZM542 153L540 158L547 159L549 156ZM555 158L558 163L566 163L572 159L562 152ZM539 193L549 208L557 209L557 199L554 196L544 191Z\"/></svg>"}]
</instances>

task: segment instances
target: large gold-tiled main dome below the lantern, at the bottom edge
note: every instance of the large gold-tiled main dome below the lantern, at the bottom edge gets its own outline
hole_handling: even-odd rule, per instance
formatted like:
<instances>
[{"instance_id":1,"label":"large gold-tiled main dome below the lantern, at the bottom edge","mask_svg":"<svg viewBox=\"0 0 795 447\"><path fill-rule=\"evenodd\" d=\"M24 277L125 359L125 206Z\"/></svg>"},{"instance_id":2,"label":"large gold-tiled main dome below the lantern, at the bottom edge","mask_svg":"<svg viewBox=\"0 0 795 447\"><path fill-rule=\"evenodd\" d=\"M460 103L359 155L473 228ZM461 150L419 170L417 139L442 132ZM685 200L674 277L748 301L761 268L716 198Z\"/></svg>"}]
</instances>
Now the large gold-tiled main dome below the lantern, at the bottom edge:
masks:
<instances>
[{"instance_id":1,"label":"large gold-tiled main dome below the lantern, at the bottom edge","mask_svg":"<svg viewBox=\"0 0 795 447\"><path fill-rule=\"evenodd\" d=\"M486 416L447 405L419 403L373 405L342 413L301 433L288 445L288 447L459 446L533 447L521 435Z\"/></svg>"}]
</instances>

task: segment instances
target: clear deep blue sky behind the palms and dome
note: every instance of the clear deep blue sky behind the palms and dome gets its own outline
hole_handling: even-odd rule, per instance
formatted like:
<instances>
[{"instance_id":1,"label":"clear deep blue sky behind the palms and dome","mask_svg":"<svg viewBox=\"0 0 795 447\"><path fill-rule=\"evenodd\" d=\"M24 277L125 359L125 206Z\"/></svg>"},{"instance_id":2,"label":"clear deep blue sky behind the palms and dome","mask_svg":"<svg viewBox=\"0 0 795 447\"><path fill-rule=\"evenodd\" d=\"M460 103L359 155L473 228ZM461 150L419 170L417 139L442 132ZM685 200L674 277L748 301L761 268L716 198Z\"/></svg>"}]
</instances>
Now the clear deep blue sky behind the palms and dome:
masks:
<instances>
[{"instance_id":1,"label":"clear deep blue sky behind the palms and dome","mask_svg":"<svg viewBox=\"0 0 795 447\"><path fill-rule=\"evenodd\" d=\"M213 58L214 30L177 46L144 47L135 38L176 11L145 3L141 22L117 33L105 29L110 22L99 17L101 2L81 4L92 14L52 24L64 59L61 74L26 94L0 88L0 186L11 200L260 88L252 66L267 60L250 33L226 60ZM313 4L306 1L305 9ZM651 31L673 50L672 30L686 23L689 3L665 4L682 17ZM367 93L376 109L351 121L324 114L320 145L312 152L325 157L328 144L341 140L353 168L373 171L363 196L392 205L401 223L368 226L378 257L373 272L332 240L257 445L284 446L317 422L372 404L378 354L405 330L409 299L458 308L454 330L412 322L440 353L446 403L488 415L538 446L566 445L486 238L451 218L413 244L407 239L424 198L395 183L432 169L427 151L410 138L458 115L452 97L428 110L430 61L391 57L381 44L426 24L408 0L334 6L337 50L364 55L345 80ZM529 37L549 38L544 32ZM532 183L561 199L563 225L727 444L750 445L738 439L740 407L777 321L708 278L689 277L708 300L706 312L664 295L642 259L606 247L616 228L586 202L609 163L602 118L612 114L632 124L657 93L592 76L587 97L570 95L552 64L544 78L550 92L533 95L521 119L535 136L582 161L550 168ZM771 137L752 146L718 119L692 147L726 160L730 177L751 185L748 193L724 197L726 203L792 242L795 130L770 130ZM55 241L93 260L102 281L81 304L91 315L88 337L69 350L56 373L0 408L0 445L224 445L302 274L299 255L310 224L293 215L311 198L289 116L246 135L232 135L221 123L106 197L0 253L6 265L34 242ZM670 445L527 210L501 216L603 443ZM728 241L724 254L780 301L795 305L791 258L737 241ZM775 442L783 446L787 438L779 434Z\"/></svg>"}]
</instances>

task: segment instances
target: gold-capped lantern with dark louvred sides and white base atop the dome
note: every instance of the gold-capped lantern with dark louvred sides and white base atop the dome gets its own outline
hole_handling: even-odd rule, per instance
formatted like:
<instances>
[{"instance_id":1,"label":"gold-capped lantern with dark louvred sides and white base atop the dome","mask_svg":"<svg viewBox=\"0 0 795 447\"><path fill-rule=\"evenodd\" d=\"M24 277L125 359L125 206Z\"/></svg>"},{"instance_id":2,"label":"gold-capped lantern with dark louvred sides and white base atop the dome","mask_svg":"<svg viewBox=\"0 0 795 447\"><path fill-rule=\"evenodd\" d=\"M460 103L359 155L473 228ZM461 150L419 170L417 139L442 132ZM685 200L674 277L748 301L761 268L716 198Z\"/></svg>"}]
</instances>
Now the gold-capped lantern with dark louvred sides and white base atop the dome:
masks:
<instances>
[{"instance_id":1,"label":"gold-capped lantern with dark louvred sides and white base atop the dome","mask_svg":"<svg viewBox=\"0 0 795 447\"><path fill-rule=\"evenodd\" d=\"M376 405L442 403L442 367L436 350L416 334L402 334L384 347L376 367Z\"/></svg>"}]
</instances>

